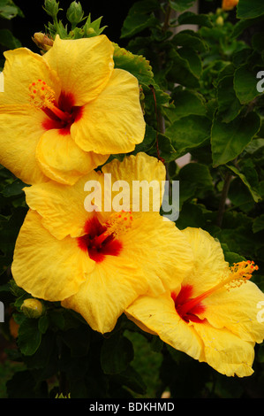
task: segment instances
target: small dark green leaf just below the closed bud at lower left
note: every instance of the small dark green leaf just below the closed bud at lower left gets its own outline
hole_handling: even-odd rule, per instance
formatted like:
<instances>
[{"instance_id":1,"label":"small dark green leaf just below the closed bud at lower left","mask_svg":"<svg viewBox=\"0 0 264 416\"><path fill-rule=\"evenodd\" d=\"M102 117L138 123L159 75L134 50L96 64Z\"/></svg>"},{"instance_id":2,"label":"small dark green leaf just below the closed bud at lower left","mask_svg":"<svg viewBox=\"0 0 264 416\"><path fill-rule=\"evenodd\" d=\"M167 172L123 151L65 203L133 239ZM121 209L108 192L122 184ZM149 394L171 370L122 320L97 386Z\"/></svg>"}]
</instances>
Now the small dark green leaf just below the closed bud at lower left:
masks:
<instances>
[{"instance_id":1,"label":"small dark green leaf just below the closed bud at lower left","mask_svg":"<svg viewBox=\"0 0 264 416\"><path fill-rule=\"evenodd\" d=\"M41 332L38 320L25 319L19 325L19 349L24 355L33 355L40 346Z\"/></svg>"}]
</instances>

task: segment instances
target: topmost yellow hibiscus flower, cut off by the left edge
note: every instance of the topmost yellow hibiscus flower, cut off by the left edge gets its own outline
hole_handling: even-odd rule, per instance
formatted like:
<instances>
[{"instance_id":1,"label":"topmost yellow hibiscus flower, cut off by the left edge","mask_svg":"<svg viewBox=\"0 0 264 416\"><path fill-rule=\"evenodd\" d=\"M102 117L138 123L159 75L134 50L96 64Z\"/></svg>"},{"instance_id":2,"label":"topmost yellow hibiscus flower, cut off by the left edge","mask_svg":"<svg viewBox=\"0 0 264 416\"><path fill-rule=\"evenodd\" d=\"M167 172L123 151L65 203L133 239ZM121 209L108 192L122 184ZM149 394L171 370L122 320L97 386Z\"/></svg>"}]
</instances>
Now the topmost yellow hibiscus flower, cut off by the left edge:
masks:
<instances>
[{"instance_id":1,"label":"topmost yellow hibiscus flower, cut off by the left edge","mask_svg":"<svg viewBox=\"0 0 264 416\"><path fill-rule=\"evenodd\" d=\"M105 35L62 40L41 56L4 52L0 163L27 184L75 183L145 135L137 79L114 68Z\"/></svg>"}]
</instances>

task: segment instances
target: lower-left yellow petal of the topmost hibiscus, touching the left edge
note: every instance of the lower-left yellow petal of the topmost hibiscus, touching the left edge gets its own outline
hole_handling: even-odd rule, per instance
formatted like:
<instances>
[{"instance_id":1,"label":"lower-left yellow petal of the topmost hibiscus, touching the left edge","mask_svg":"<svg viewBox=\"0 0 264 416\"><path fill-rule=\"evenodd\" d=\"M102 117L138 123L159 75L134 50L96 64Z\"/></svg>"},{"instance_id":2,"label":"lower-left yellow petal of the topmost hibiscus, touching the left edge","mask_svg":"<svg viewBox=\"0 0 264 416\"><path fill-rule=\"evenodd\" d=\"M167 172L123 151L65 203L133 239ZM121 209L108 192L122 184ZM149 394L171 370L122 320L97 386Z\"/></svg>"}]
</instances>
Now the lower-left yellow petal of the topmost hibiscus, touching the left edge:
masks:
<instances>
[{"instance_id":1,"label":"lower-left yellow petal of the topmost hibiscus, touching the left edge","mask_svg":"<svg viewBox=\"0 0 264 416\"><path fill-rule=\"evenodd\" d=\"M29 105L0 107L0 163L27 184L48 181L35 158L46 117Z\"/></svg>"}]
</instances>

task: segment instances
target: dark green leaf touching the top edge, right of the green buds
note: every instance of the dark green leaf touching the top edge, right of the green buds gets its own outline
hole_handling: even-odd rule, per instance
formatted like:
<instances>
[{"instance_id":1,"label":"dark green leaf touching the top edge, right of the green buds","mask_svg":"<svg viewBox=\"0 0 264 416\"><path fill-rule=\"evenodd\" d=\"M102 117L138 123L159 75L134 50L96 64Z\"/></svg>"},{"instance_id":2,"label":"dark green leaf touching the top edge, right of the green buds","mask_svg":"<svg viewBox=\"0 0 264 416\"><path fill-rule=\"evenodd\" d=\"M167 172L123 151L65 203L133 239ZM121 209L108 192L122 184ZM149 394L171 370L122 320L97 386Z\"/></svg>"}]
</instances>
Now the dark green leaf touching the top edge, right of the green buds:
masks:
<instances>
[{"instance_id":1,"label":"dark green leaf touching the top edge, right of the green buds","mask_svg":"<svg viewBox=\"0 0 264 416\"><path fill-rule=\"evenodd\" d=\"M132 37L158 23L154 12L160 7L156 0L143 0L132 5L121 29L121 38Z\"/></svg>"}]
</instances>

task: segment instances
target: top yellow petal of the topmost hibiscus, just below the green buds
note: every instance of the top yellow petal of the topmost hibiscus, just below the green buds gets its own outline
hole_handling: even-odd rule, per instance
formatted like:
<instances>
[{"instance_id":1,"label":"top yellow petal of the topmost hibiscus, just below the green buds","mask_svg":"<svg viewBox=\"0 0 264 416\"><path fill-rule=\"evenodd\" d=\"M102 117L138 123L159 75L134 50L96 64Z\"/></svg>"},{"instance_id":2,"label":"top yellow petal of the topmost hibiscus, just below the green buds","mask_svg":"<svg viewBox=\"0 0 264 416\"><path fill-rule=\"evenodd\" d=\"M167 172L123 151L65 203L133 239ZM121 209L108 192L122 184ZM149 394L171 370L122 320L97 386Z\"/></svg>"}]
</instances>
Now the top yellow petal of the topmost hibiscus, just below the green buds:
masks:
<instances>
[{"instance_id":1,"label":"top yellow petal of the topmost hibiscus, just below the green buds","mask_svg":"<svg viewBox=\"0 0 264 416\"><path fill-rule=\"evenodd\" d=\"M64 93L73 95L75 105L83 105L94 100L109 81L113 51L105 35L74 41L57 35L44 59L56 71Z\"/></svg>"}]
</instances>

